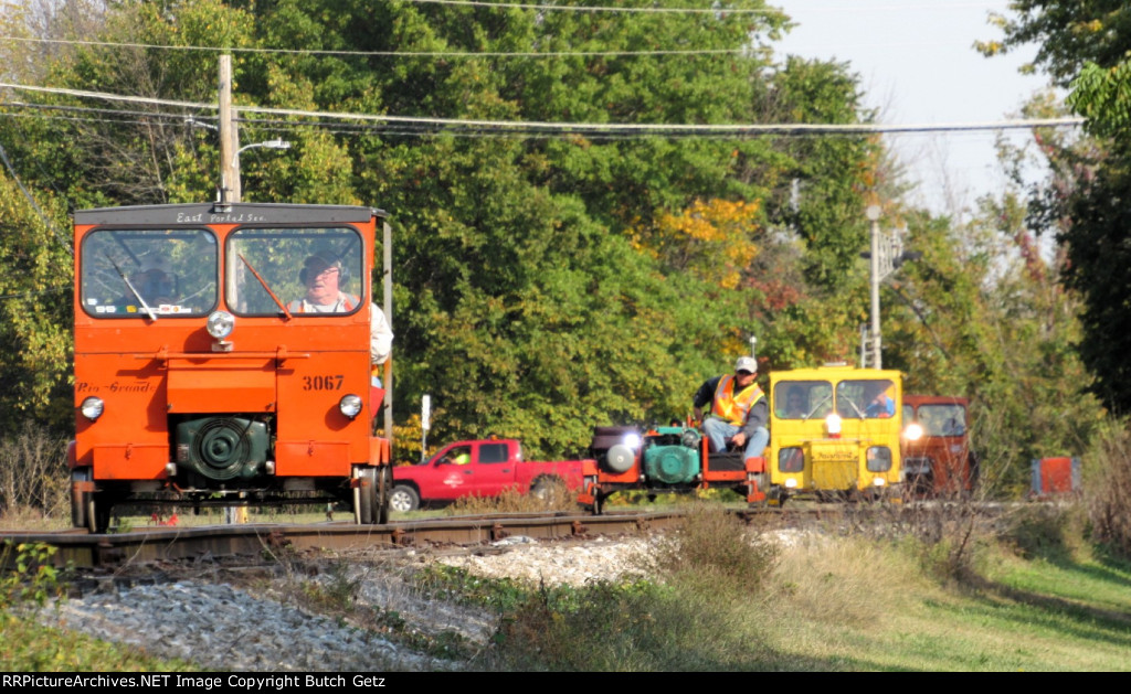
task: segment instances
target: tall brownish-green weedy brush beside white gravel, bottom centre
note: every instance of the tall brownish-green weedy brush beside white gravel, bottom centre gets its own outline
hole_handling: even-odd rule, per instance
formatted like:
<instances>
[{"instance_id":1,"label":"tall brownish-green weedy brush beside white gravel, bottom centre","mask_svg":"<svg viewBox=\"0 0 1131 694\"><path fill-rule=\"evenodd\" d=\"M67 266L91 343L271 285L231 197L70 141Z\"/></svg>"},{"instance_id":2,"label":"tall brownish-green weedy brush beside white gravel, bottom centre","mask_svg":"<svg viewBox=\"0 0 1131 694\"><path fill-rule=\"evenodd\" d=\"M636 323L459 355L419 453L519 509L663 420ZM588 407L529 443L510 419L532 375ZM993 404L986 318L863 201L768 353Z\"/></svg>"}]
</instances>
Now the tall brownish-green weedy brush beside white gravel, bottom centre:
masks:
<instances>
[{"instance_id":1,"label":"tall brownish-green weedy brush beside white gravel, bottom centre","mask_svg":"<svg viewBox=\"0 0 1131 694\"><path fill-rule=\"evenodd\" d=\"M691 508L641 569L655 580L541 587L509 609L491 667L504 670L765 669L762 583L777 558L717 504Z\"/></svg>"}]
</instances>

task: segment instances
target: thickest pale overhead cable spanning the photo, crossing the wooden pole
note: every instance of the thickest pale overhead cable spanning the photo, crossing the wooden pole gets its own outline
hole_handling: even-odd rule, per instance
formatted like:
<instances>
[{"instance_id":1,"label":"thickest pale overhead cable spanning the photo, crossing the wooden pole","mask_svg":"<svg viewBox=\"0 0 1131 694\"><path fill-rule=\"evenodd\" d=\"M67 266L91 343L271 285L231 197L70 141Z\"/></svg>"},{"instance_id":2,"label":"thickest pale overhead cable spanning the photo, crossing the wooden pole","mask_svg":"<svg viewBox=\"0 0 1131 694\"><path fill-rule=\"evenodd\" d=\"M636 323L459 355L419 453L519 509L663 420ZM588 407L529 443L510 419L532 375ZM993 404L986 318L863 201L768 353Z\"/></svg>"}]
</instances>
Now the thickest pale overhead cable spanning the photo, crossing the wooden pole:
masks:
<instances>
[{"instance_id":1,"label":"thickest pale overhead cable spanning the photo, crossing the wooden pole","mask_svg":"<svg viewBox=\"0 0 1131 694\"><path fill-rule=\"evenodd\" d=\"M38 92L46 94L63 94L80 98L98 98L104 101L121 101L135 104L152 104L191 110L218 110L214 103L180 102L143 96L107 94L104 92L87 92L61 87L36 87L0 83L0 87ZM687 124L687 123L568 123L554 121L492 121L468 119L444 119L406 115L374 115L369 113L339 113L330 111L308 111L301 109L268 109L264 106L233 106L239 113L259 113L275 116L314 118L330 121L359 121L363 123L396 123L433 128L489 128L513 132L532 133L633 133L661 136L731 136L743 137L754 135L887 135L905 132L953 132L975 130L1019 130L1031 128L1062 128L1083 124L1082 118L1053 119L1015 119L1007 121L982 121L969 123L732 123L732 124Z\"/></svg>"}]
</instances>

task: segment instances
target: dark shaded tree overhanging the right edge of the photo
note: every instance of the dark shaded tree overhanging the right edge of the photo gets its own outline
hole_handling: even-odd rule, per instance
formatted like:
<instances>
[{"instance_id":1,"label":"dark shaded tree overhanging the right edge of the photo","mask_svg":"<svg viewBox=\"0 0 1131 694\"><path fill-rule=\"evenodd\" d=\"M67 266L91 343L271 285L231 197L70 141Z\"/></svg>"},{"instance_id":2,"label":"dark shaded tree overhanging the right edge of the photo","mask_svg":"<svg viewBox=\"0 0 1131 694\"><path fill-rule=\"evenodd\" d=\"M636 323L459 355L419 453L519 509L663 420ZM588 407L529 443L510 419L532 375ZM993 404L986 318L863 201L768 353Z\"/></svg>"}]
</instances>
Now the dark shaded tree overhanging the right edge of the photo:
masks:
<instances>
[{"instance_id":1,"label":"dark shaded tree overhanging the right edge of the photo","mask_svg":"<svg viewBox=\"0 0 1131 694\"><path fill-rule=\"evenodd\" d=\"M1131 387L1124 355L1123 326L1131 320L1123 279L1126 228L1120 206L1131 192L1131 10L1117 2L1025 0L1013 3L1012 18L999 24L999 47L1038 44L1036 66L1071 88L1070 107L1085 115L1096 139L1087 146L1046 148L1057 175L1033 197L1030 223L1053 232L1067 248L1067 285L1083 303L1080 355L1095 375L1093 390L1116 413L1131 411ZM1063 220L1071 220L1063 224Z\"/></svg>"}]
</instances>

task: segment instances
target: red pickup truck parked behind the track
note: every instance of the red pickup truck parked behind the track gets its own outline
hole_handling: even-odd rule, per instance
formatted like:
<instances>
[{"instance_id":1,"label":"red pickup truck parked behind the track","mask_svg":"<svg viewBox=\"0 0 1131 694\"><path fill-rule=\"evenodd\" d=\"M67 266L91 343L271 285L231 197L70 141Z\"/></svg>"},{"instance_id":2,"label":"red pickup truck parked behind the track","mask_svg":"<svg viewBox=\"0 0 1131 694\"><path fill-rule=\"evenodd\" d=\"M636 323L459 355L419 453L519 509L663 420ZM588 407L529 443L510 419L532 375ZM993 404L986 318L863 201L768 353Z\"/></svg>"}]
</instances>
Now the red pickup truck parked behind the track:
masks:
<instances>
[{"instance_id":1,"label":"red pickup truck parked behind the track","mask_svg":"<svg viewBox=\"0 0 1131 694\"><path fill-rule=\"evenodd\" d=\"M554 486L581 486L581 461L524 460L523 445L513 439L457 441L417 465L392 468L394 511L443 504L460 496L498 496L504 489L534 494Z\"/></svg>"}]
</instances>

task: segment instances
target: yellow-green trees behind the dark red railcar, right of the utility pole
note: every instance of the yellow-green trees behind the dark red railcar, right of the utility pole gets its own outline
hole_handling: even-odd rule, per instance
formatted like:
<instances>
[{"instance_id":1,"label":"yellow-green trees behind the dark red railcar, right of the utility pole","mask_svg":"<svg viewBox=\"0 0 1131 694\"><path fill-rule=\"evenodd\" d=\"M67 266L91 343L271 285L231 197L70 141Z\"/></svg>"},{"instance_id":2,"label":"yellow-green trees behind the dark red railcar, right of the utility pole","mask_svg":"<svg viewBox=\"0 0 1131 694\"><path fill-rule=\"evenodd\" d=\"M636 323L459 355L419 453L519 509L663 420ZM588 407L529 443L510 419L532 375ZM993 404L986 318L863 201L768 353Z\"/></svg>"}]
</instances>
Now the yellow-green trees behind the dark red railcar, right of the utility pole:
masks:
<instances>
[{"instance_id":1,"label":"yellow-green trees behind the dark red railcar, right of the utility pole","mask_svg":"<svg viewBox=\"0 0 1131 694\"><path fill-rule=\"evenodd\" d=\"M1041 95L1025 112L1047 116L1053 107ZM1063 189L1079 144L1053 129L1035 136L1037 154L1055 164L1042 188ZM1060 281L1065 255L1030 228L1022 166L1030 149L1000 141L1011 183L979 200L969 222L908 215L923 258L882 294L884 364L906 371L909 392L969 397L984 475L1015 494L1029 486L1031 459L1081 453L1102 413L1083 392L1091 376L1074 349L1080 298ZM1041 225L1046 240L1056 224Z\"/></svg>"}]
</instances>

